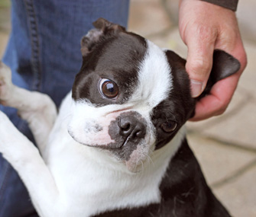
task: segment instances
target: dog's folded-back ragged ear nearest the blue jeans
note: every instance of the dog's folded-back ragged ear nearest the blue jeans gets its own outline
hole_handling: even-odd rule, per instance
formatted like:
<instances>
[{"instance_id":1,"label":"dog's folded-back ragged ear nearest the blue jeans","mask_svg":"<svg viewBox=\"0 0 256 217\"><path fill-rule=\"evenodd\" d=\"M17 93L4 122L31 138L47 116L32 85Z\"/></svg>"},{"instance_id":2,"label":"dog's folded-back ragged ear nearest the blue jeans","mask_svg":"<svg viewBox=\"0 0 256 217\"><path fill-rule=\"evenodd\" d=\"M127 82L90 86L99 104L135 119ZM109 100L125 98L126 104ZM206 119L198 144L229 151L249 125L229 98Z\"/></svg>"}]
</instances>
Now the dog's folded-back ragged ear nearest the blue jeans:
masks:
<instances>
[{"instance_id":1,"label":"dog's folded-back ragged ear nearest the blue jeans","mask_svg":"<svg viewBox=\"0 0 256 217\"><path fill-rule=\"evenodd\" d=\"M89 30L88 34L81 40L81 52L83 56L86 56L103 37L125 32L125 27L113 24L104 18L99 18L93 22L93 26L96 28Z\"/></svg>"}]
</instances>

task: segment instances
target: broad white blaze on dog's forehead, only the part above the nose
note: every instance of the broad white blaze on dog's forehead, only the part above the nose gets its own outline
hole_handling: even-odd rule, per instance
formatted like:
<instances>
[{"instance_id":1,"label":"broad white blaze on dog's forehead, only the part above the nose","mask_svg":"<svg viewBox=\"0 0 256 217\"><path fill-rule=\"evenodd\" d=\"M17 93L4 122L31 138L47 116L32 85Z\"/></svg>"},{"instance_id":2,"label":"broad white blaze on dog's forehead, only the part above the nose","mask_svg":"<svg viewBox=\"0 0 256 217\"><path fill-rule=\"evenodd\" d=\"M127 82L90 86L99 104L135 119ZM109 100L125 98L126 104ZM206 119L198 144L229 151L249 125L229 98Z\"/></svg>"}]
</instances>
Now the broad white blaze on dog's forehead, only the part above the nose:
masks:
<instances>
[{"instance_id":1,"label":"broad white blaze on dog's forehead, only the part above the nose","mask_svg":"<svg viewBox=\"0 0 256 217\"><path fill-rule=\"evenodd\" d=\"M131 101L146 103L152 110L168 97L173 78L164 51L149 40L147 46L147 53L138 73L138 87Z\"/></svg>"}]
</instances>

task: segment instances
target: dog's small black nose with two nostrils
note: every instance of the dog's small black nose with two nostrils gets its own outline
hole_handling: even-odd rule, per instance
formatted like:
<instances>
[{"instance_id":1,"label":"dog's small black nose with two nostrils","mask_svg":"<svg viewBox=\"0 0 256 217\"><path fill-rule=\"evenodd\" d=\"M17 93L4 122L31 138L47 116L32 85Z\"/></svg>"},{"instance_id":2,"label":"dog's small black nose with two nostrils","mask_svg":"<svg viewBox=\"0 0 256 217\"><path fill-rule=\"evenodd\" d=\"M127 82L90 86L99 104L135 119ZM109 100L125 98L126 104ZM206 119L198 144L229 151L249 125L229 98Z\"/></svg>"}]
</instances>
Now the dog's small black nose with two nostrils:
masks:
<instances>
[{"instance_id":1,"label":"dog's small black nose with two nostrils","mask_svg":"<svg viewBox=\"0 0 256 217\"><path fill-rule=\"evenodd\" d=\"M119 134L129 139L144 138L146 126L135 116L120 116Z\"/></svg>"}]
</instances>

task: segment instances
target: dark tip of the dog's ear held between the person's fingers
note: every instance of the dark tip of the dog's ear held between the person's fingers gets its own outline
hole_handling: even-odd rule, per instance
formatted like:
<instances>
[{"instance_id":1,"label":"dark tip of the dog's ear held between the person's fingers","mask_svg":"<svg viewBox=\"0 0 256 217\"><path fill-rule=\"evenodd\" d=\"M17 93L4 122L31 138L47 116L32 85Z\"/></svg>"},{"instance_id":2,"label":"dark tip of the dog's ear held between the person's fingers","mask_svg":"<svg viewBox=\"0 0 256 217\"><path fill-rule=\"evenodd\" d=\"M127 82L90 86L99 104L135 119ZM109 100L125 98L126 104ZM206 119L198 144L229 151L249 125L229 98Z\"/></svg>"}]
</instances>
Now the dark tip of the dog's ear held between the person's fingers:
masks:
<instances>
[{"instance_id":1,"label":"dark tip of the dog's ear held between the person's fingers","mask_svg":"<svg viewBox=\"0 0 256 217\"><path fill-rule=\"evenodd\" d=\"M241 66L238 59L235 59L234 56L231 56L220 49L215 49L212 61L212 71L209 75L206 88L203 93L199 95L199 97L196 97L197 100L209 94L212 86L215 85L215 83L235 74L235 72L238 72Z\"/></svg>"}]
</instances>

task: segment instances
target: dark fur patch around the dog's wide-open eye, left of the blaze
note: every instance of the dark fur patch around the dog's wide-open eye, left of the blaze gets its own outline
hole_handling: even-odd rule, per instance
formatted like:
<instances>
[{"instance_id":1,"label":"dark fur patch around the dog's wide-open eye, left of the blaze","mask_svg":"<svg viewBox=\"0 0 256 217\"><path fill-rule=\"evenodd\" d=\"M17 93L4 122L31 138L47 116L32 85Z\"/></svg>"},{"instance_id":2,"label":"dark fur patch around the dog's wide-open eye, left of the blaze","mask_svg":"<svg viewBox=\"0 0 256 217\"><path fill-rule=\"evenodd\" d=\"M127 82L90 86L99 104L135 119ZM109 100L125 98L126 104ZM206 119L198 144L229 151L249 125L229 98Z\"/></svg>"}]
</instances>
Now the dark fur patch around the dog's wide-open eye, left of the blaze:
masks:
<instances>
[{"instance_id":1,"label":"dark fur patch around the dog's wide-open eye, left of the blaze","mask_svg":"<svg viewBox=\"0 0 256 217\"><path fill-rule=\"evenodd\" d=\"M101 23L96 22L96 27L102 27ZM83 65L76 75L72 97L76 101L88 99L98 106L123 104L137 85L138 67L145 56L147 43L143 37L123 32L123 28L116 25L105 24L102 28L97 41L86 37L93 41L93 46L89 43L88 52L83 53ZM122 87L115 101L99 94L101 78L108 78Z\"/></svg>"}]
</instances>

